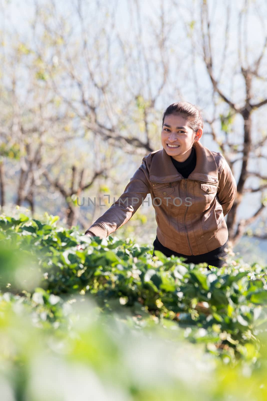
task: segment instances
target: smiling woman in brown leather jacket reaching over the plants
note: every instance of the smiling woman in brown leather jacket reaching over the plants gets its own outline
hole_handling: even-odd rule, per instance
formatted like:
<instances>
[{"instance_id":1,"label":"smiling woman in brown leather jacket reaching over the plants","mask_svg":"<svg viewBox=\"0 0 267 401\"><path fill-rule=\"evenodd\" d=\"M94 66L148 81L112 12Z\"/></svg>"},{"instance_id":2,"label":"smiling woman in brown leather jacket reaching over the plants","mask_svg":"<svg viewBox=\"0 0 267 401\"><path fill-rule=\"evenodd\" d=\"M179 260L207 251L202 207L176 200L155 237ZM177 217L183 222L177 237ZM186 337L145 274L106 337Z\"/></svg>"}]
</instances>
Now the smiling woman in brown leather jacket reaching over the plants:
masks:
<instances>
[{"instance_id":1,"label":"smiling woman in brown leather jacket reaching over the plants","mask_svg":"<svg viewBox=\"0 0 267 401\"><path fill-rule=\"evenodd\" d=\"M120 198L95 221L86 235L106 238L127 223L151 194L157 221L154 251L186 257L186 263L222 267L237 185L225 158L200 143L203 119L188 102L163 113L163 149L143 158Z\"/></svg>"}]
</instances>

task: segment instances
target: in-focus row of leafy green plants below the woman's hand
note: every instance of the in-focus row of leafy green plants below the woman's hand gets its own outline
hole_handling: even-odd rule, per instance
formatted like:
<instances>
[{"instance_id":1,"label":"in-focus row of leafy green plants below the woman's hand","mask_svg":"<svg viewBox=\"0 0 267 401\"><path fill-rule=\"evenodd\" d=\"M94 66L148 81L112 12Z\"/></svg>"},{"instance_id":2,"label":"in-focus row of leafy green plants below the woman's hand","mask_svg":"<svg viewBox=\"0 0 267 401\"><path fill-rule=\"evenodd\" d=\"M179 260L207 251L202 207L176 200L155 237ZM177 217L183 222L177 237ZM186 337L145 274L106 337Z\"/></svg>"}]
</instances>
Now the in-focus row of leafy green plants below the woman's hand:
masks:
<instances>
[{"instance_id":1,"label":"in-focus row of leafy green plants below the woman's hand","mask_svg":"<svg viewBox=\"0 0 267 401\"><path fill-rule=\"evenodd\" d=\"M240 358L256 363L258 334L267 321L266 266L240 260L222 269L188 265L157 251L152 257L151 247L130 240L57 228L57 220L1 217L2 291L40 294L43 300L90 294L103 312L126 313L140 325L147 317L164 327L175 323L189 341L205 344L225 363ZM49 316L59 318L52 308Z\"/></svg>"}]
</instances>

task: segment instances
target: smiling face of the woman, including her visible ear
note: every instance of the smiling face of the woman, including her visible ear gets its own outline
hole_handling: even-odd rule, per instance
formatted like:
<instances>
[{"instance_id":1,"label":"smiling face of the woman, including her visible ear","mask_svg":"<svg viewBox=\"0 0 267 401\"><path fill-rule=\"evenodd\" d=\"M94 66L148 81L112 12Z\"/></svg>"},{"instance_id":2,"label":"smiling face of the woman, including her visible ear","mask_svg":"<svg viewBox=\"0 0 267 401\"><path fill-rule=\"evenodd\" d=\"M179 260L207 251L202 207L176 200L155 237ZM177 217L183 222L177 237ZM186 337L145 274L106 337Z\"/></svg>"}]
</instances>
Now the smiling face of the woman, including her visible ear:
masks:
<instances>
[{"instance_id":1,"label":"smiling face of the woman, including her visible ear","mask_svg":"<svg viewBox=\"0 0 267 401\"><path fill-rule=\"evenodd\" d=\"M184 162L191 154L193 143L201 138L202 132L201 128L194 132L181 114L166 115L161 131L161 144L169 156L177 162Z\"/></svg>"}]
</instances>

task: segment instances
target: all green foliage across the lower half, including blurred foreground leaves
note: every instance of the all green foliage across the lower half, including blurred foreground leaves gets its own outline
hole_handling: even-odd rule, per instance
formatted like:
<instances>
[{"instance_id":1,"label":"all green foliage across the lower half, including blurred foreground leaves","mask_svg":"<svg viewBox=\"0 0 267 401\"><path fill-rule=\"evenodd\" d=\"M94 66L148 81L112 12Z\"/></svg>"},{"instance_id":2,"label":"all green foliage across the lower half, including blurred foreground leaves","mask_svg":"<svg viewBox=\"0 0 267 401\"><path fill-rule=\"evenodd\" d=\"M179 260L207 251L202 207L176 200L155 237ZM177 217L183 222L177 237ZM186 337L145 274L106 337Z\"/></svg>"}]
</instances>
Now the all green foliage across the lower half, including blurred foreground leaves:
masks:
<instances>
[{"instance_id":1,"label":"all green foliage across the lower half, including blurred foreground leaves","mask_svg":"<svg viewBox=\"0 0 267 401\"><path fill-rule=\"evenodd\" d=\"M3 399L266 399L267 266L152 257L57 221L0 216Z\"/></svg>"}]
</instances>

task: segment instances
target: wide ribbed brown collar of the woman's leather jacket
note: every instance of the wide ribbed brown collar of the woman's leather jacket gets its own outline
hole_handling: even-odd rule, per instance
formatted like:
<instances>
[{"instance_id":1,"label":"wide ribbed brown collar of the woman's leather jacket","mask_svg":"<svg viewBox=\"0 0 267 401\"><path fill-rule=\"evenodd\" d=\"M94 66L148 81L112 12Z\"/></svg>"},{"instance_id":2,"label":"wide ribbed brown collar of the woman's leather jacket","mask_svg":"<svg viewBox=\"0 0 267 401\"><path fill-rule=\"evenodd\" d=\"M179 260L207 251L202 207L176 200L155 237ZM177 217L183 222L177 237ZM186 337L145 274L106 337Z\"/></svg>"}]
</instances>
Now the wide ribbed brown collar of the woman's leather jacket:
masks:
<instances>
[{"instance_id":1,"label":"wide ribbed brown collar of the woman's leather jacket","mask_svg":"<svg viewBox=\"0 0 267 401\"><path fill-rule=\"evenodd\" d=\"M195 142L193 146L197 162L188 179L217 184L218 169L213 153L199 141ZM173 166L171 156L166 153L165 149L155 151L149 169L149 180L154 182L172 182L181 179L183 179L183 176Z\"/></svg>"}]
</instances>

